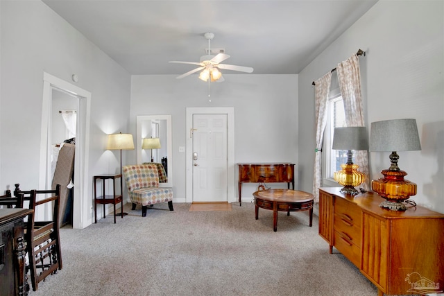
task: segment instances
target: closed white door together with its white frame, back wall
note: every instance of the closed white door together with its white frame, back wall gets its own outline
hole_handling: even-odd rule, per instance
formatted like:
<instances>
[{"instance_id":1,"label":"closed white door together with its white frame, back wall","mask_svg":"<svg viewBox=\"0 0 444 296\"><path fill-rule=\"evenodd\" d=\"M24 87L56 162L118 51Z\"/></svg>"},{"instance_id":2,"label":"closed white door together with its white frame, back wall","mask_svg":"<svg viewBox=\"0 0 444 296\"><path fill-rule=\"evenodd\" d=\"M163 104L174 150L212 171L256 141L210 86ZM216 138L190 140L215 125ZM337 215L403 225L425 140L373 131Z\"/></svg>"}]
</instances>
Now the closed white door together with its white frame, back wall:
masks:
<instances>
[{"instance_id":1,"label":"closed white door together with its white frame, back wall","mask_svg":"<svg viewBox=\"0 0 444 296\"><path fill-rule=\"evenodd\" d=\"M203 158L199 158L203 152L198 151L198 162L194 161L194 148L196 145L200 145L202 143L214 145L214 143L222 143L221 139L210 139L207 141L207 137L203 139L202 134L199 136L198 132L195 130L194 119L198 119L198 121L206 122L205 124L210 124L210 122L218 122L219 125L226 126L226 146L223 144L226 149L223 150L223 157L216 157L220 161L219 164L205 164ZM225 123L221 123L225 122ZM212 123L210 124L212 125ZM203 127L201 127L203 130ZM212 128L210 128L212 130ZM205 131L207 134L209 130ZM220 128L219 128L220 131ZM196 138L194 138L194 132L196 132ZM220 134L220 133L219 133ZM219 137L219 136L218 136ZM217 138L217 137L216 137ZM194 142L196 139L196 142ZM215 140L215 141L214 141ZM202 142L203 141L203 142ZM214 201L228 201L234 202L236 201L236 196L234 195L234 108L233 107L189 107L187 108L187 150L186 150L186 160L187 160L187 194L186 194L186 202L214 202ZM200 162L200 164L199 164ZM223 171L221 171L220 164L223 164ZM194 164L198 164L198 166L203 166L205 169L200 170ZM219 177L212 177L212 181L204 180L203 177L207 177L208 174L204 175L203 171L208 168L214 169L218 167ZM214 175L214 174L213 174ZM220 177L223 176L223 177ZM219 185L214 186L214 182L221 182ZM205 186L200 186L200 184L205 184ZM207 184L213 184L207 186ZM205 190L201 190L202 188L197 189L196 186L205 187ZM220 187L220 188L219 188Z\"/></svg>"}]
</instances>

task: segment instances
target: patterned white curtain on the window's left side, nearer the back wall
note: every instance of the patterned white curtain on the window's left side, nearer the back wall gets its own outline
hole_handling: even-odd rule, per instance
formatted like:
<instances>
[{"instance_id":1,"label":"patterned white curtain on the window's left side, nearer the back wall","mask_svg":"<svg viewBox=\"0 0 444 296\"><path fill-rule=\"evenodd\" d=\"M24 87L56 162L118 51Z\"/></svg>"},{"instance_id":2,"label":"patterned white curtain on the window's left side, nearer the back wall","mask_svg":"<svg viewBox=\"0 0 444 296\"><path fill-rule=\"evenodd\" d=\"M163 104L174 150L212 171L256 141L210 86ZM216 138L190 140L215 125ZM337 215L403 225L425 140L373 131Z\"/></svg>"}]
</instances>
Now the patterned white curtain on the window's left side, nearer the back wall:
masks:
<instances>
[{"instance_id":1,"label":"patterned white curtain on the window's left side, nearer the back wall","mask_svg":"<svg viewBox=\"0 0 444 296\"><path fill-rule=\"evenodd\" d=\"M332 72L328 72L323 77L315 81L315 101L316 101L316 149L314 155L314 176L313 195L314 201L319 202L319 187L322 180L322 141L325 125L327 125L327 101L330 96L330 85L332 82Z\"/></svg>"}]
</instances>

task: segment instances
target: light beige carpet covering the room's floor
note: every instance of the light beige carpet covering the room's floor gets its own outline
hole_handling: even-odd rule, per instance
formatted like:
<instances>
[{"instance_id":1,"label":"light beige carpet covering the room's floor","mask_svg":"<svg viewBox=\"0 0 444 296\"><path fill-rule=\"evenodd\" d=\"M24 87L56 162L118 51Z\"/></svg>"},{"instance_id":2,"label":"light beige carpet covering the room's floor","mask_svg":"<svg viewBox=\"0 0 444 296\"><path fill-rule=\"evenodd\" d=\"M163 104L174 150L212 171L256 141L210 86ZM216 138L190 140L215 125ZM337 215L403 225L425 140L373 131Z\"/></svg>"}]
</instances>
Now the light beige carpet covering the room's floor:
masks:
<instances>
[{"instance_id":1,"label":"light beige carpet covering the room's floor","mask_svg":"<svg viewBox=\"0 0 444 296\"><path fill-rule=\"evenodd\" d=\"M142 217L126 204L116 224L109 214L85 229L63 227L63 269L29 295L377 296L355 265L329 253L307 211L279 212L273 232L273 211L255 220L251 202L231 211L190 206L169 211L163 202Z\"/></svg>"}]
</instances>

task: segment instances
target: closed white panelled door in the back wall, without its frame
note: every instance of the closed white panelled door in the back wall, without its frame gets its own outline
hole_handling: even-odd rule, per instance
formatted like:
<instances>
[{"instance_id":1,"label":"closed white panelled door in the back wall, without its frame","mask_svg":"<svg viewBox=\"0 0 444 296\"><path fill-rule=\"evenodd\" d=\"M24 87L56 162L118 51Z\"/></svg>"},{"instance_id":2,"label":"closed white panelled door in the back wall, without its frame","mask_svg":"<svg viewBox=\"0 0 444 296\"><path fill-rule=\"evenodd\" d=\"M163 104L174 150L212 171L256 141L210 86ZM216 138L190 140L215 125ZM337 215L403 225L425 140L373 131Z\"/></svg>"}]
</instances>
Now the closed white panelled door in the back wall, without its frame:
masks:
<instances>
[{"instance_id":1,"label":"closed white panelled door in the back wall, without its frame","mask_svg":"<svg viewBox=\"0 0 444 296\"><path fill-rule=\"evenodd\" d=\"M193 202L227 202L227 114L193 114L192 140Z\"/></svg>"}]
</instances>

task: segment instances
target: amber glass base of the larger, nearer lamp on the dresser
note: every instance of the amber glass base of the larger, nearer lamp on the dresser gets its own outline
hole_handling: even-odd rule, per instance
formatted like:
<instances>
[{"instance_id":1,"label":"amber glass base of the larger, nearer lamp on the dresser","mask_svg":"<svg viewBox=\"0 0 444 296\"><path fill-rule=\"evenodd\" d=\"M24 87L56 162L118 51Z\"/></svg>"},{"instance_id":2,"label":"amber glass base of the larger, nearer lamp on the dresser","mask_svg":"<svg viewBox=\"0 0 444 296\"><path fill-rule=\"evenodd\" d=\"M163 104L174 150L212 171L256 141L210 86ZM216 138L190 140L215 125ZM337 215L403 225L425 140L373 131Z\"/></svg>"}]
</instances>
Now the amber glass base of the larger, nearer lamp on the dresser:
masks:
<instances>
[{"instance_id":1,"label":"amber glass base of the larger, nearer lamp on the dresser","mask_svg":"<svg viewBox=\"0 0 444 296\"><path fill-rule=\"evenodd\" d=\"M409 180L404 180L407 175L405 171L383 170L384 177L372 181L372 190L382 198L384 202L379 207L385 207L392 211L405 211L404 200L408 200L411 195L416 195L416 184Z\"/></svg>"}]
</instances>

